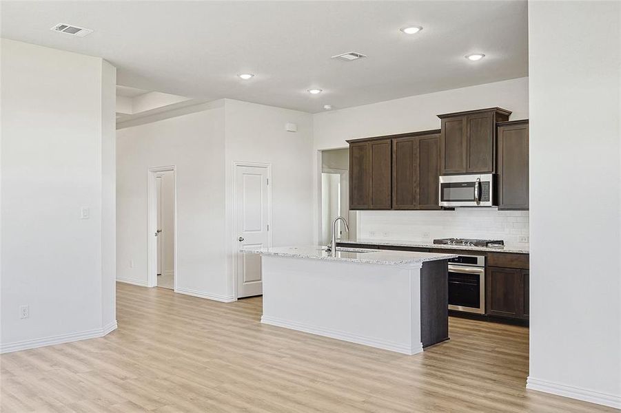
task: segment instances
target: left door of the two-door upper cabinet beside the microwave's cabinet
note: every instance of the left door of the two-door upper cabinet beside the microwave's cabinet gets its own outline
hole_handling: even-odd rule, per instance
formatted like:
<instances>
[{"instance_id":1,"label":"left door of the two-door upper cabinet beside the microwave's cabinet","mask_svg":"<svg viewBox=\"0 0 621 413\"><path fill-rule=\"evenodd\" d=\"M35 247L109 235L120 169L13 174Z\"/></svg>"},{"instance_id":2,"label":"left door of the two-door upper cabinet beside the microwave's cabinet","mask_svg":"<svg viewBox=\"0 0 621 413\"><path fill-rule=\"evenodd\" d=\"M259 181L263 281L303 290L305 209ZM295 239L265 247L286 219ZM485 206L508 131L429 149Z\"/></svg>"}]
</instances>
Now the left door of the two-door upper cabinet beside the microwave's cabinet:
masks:
<instances>
[{"instance_id":1,"label":"left door of the two-door upper cabinet beside the microwave's cabinet","mask_svg":"<svg viewBox=\"0 0 621 413\"><path fill-rule=\"evenodd\" d=\"M416 137L392 141L392 207L418 208L418 140Z\"/></svg>"}]
</instances>

